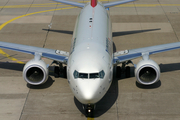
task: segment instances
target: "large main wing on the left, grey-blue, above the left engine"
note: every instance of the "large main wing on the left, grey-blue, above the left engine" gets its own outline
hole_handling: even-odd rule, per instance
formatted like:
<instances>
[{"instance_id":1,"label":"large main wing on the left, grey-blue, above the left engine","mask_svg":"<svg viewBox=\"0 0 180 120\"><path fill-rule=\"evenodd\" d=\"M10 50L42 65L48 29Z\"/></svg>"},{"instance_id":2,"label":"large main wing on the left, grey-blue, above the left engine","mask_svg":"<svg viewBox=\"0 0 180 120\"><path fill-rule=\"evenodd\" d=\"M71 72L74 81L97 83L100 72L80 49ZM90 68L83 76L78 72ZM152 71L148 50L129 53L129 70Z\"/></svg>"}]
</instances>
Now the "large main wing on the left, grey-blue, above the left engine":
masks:
<instances>
[{"instance_id":1,"label":"large main wing on the left, grey-blue, above the left engine","mask_svg":"<svg viewBox=\"0 0 180 120\"><path fill-rule=\"evenodd\" d=\"M35 53L41 54L42 57L59 61L61 63L67 64L69 53L60 50L53 50L47 48L33 47L28 45L21 45L8 42L0 42L0 48L14 50L18 52L28 53L35 55Z\"/></svg>"}]
</instances>

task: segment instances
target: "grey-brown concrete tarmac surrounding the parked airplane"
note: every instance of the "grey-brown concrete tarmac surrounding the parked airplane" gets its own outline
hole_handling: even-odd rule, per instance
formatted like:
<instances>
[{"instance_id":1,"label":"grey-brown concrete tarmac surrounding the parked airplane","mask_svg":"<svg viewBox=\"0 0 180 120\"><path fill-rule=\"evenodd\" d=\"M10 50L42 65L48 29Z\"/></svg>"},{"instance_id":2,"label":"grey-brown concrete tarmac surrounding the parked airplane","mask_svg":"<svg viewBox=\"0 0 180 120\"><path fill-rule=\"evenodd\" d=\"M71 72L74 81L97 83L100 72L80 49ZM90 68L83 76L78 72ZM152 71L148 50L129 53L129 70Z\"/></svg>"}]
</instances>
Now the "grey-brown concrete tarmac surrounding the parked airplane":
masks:
<instances>
[{"instance_id":1,"label":"grey-brown concrete tarmac surrounding the parked airplane","mask_svg":"<svg viewBox=\"0 0 180 120\"><path fill-rule=\"evenodd\" d=\"M80 10L49 0L1 0L0 41L69 51ZM138 0L109 12L116 51L180 41L179 0ZM158 83L138 84L131 66L131 77L114 79L94 117L87 118L67 79L54 76L55 65L45 84L31 86L22 70L33 56L0 50L0 119L180 120L180 50L150 58L161 68Z\"/></svg>"}]
</instances>

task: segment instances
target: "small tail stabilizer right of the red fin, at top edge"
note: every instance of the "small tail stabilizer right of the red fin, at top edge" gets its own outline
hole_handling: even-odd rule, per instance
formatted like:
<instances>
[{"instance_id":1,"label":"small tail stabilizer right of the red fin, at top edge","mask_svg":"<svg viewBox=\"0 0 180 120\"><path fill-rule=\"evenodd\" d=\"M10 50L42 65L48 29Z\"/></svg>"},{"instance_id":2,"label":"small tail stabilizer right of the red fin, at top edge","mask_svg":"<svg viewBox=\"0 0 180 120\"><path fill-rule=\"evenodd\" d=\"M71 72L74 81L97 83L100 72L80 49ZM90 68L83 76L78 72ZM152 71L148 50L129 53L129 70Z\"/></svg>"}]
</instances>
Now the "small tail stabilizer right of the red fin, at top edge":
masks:
<instances>
[{"instance_id":1,"label":"small tail stabilizer right of the red fin, at top edge","mask_svg":"<svg viewBox=\"0 0 180 120\"><path fill-rule=\"evenodd\" d=\"M110 3L104 3L104 7L105 8L109 8L115 5L120 5L120 4L124 4L124 3L128 3L128 2L133 2L135 0L122 0L122 1L116 1L116 2L110 2Z\"/></svg>"}]
</instances>

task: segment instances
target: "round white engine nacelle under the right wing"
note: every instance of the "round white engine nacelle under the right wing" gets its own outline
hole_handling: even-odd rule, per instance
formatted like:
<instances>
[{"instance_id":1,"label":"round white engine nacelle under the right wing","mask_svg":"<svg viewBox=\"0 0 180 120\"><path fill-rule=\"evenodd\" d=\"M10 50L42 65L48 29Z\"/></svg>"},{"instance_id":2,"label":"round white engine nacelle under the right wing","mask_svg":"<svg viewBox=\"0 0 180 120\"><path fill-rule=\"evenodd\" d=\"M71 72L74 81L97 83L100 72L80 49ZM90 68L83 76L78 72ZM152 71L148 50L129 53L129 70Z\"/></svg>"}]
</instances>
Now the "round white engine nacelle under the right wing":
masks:
<instances>
[{"instance_id":1,"label":"round white engine nacelle under the right wing","mask_svg":"<svg viewBox=\"0 0 180 120\"><path fill-rule=\"evenodd\" d=\"M140 84L154 84L160 77L159 65L151 59L141 60L135 68L135 76Z\"/></svg>"}]
</instances>

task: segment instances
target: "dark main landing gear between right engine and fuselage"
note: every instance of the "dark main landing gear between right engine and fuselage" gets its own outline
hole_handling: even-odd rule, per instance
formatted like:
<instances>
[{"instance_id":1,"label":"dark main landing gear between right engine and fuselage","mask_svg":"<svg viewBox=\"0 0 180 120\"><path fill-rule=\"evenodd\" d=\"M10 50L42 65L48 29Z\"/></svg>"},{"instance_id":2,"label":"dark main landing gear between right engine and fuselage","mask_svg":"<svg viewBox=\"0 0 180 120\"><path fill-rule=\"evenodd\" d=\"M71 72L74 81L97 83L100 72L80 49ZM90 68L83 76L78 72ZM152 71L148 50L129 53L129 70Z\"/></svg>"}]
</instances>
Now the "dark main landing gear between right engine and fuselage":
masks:
<instances>
[{"instance_id":1,"label":"dark main landing gear between right engine and fuselage","mask_svg":"<svg viewBox=\"0 0 180 120\"><path fill-rule=\"evenodd\" d=\"M121 78L124 75L125 78L129 78L131 76L130 67L127 66L131 61L123 62L122 66L116 67L116 78ZM133 63L132 63L133 64Z\"/></svg>"}]
</instances>

